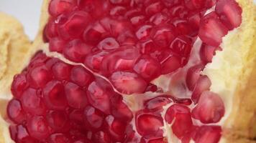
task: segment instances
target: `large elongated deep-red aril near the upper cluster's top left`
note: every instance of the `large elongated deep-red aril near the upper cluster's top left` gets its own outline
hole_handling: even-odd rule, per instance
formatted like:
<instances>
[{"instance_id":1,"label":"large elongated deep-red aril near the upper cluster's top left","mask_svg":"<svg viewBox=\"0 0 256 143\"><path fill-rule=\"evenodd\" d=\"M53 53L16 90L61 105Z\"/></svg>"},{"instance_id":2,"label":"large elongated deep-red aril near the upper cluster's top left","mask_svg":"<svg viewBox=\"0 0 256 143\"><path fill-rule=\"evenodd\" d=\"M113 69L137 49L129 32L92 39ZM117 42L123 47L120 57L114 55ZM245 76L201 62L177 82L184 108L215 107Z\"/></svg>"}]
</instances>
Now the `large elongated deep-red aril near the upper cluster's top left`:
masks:
<instances>
[{"instance_id":1,"label":"large elongated deep-red aril near the upper cluster's top left","mask_svg":"<svg viewBox=\"0 0 256 143\"><path fill-rule=\"evenodd\" d=\"M87 12L74 11L64 24L58 26L58 34L64 39L76 39L83 34L90 21L91 16Z\"/></svg>"}]
</instances>

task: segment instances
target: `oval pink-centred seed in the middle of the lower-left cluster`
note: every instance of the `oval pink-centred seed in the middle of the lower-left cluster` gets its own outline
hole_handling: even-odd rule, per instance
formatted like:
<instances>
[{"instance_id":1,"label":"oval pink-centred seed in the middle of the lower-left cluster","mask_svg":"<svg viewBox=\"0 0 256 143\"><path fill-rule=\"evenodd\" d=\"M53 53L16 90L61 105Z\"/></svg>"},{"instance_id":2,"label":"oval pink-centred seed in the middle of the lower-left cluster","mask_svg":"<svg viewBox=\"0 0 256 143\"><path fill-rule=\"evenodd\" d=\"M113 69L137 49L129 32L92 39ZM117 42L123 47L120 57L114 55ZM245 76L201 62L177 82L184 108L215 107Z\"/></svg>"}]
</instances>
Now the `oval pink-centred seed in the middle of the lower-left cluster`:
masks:
<instances>
[{"instance_id":1,"label":"oval pink-centred seed in the middle of the lower-left cluster","mask_svg":"<svg viewBox=\"0 0 256 143\"><path fill-rule=\"evenodd\" d=\"M86 92L72 82L65 85L65 96L70 107L82 109L88 104Z\"/></svg>"}]
</instances>

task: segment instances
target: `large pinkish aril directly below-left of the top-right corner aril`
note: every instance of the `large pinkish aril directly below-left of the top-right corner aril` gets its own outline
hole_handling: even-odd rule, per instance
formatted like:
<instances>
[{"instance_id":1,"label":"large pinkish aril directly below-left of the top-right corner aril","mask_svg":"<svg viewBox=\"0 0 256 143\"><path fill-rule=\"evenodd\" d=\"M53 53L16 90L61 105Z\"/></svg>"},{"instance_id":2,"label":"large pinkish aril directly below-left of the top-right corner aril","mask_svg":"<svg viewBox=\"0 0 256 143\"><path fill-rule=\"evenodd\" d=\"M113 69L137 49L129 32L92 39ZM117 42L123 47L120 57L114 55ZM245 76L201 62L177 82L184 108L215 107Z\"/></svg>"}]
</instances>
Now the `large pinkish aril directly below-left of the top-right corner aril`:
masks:
<instances>
[{"instance_id":1,"label":"large pinkish aril directly below-left of the top-right corner aril","mask_svg":"<svg viewBox=\"0 0 256 143\"><path fill-rule=\"evenodd\" d=\"M219 16L215 12L211 12L201 20L198 36L210 46L219 46L227 32L228 29L221 23Z\"/></svg>"}]
</instances>

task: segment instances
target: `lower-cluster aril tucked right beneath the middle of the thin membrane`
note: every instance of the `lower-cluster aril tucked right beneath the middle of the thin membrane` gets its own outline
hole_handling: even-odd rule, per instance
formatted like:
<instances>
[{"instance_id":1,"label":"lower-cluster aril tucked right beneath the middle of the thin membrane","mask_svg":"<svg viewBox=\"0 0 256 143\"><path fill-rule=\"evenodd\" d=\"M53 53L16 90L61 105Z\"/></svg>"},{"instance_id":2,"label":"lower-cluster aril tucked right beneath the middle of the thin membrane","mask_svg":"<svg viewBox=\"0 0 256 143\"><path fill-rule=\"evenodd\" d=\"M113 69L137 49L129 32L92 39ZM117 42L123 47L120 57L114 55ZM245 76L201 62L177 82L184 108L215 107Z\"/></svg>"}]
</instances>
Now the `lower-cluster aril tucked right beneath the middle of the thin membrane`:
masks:
<instances>
[{"instance_id":1,"label":"lower-cluster aril tucked right beneath the middle of the thin membrane","mask_svg":"<svg viewBox=\"0 0 256 143\"><path fill-rule=\"evenodd\" d=\"M97 109L101 110L105 114L109 114L110 112L110 93L109 91L105 91L100 84L97 82L92 82L88 86L88 101Z\"/></svg>"}]
</instances>

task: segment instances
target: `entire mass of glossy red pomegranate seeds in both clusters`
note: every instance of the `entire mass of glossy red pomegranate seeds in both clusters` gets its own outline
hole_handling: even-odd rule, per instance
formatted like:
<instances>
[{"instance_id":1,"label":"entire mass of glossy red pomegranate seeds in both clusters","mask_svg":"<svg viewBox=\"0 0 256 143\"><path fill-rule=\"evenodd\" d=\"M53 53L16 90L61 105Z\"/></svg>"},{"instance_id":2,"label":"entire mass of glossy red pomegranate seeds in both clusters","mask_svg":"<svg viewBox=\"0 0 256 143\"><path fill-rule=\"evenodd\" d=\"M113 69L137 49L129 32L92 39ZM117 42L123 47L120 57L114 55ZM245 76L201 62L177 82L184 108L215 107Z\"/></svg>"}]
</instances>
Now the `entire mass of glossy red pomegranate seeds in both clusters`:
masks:
<instances>
[{"instance_id":1,"label":"entire mass of glossy red pomegranate seeds in both clusters","mask_svg":"<svg viewBox=\"0 0 256 143\"><path fill-rule=\"evenodd\" d=\"M242 22L236 1L51 0L49 14L45 42L76 64L40 51L14 77L15 142L166 143L165 124L183 143L219 142L224 102L201 71ZM182 68L190 97L152 84Z\"/></svg>"}]
</instances>

